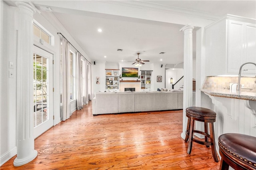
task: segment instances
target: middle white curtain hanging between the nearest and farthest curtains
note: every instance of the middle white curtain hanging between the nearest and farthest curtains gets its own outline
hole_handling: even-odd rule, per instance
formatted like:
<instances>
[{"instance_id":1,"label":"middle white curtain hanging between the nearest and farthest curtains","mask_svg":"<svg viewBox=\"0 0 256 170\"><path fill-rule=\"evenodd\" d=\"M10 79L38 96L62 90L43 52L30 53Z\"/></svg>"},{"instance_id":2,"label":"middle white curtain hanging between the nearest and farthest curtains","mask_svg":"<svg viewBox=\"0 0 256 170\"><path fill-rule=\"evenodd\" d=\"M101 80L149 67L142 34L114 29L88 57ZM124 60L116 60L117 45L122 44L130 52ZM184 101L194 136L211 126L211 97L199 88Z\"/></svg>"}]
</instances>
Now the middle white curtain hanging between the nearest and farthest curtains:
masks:
<instances>
[{"instance_id":1,"label":"middle white curtain hanging between the nearest and farthest curtains","mask_svg":"<svg viewBox=\"0 0 256 170\"><path fill-rule=\"evenodd\" d=\"M76 107L78 110L83 108L84 101L82 101L82 64L81 64L82 55L77 52L76 53Z\"/></svg>"}]
</instances>

